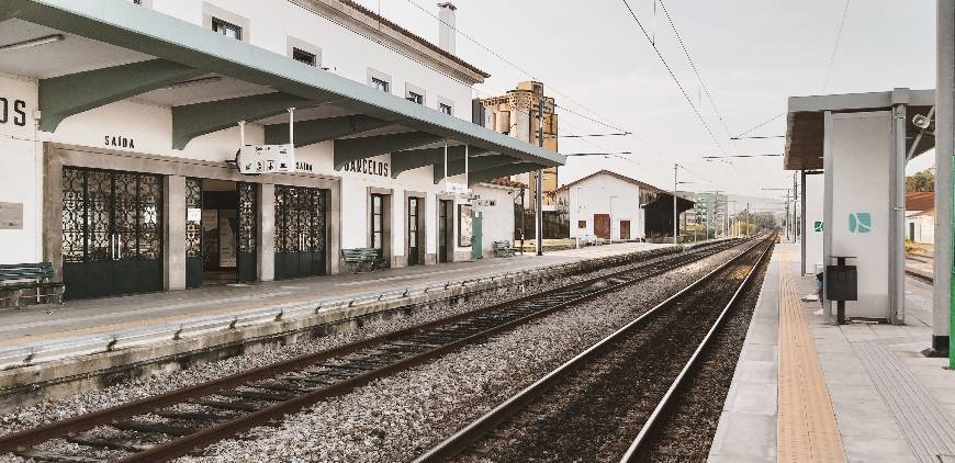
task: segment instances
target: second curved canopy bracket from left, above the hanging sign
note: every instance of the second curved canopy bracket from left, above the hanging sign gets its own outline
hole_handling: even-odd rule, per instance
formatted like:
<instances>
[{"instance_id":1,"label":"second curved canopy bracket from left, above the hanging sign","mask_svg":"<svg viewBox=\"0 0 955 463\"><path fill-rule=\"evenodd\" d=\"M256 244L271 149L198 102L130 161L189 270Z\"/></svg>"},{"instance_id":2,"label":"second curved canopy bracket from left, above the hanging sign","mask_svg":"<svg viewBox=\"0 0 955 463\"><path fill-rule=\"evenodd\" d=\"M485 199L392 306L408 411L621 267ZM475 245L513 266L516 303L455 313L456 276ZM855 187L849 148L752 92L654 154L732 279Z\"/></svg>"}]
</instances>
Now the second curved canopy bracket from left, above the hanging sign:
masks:
<instances>
[{"instance_id":1,"label":"second curved canopy bracket from left, above the hanging sign","mask_svg":"<svg viewBox=\"0 0 955 463\"><path fill-rule=\"evenodd\" d=\"M193 138L234 127L239 121L271 117L284 113L289 108L311 108L333 99L329 94L325 101L313 101L278 92L173 106L172 147L186 148ZM285 132L288 140L288 128Z\"/></svg>"}]
</instances>

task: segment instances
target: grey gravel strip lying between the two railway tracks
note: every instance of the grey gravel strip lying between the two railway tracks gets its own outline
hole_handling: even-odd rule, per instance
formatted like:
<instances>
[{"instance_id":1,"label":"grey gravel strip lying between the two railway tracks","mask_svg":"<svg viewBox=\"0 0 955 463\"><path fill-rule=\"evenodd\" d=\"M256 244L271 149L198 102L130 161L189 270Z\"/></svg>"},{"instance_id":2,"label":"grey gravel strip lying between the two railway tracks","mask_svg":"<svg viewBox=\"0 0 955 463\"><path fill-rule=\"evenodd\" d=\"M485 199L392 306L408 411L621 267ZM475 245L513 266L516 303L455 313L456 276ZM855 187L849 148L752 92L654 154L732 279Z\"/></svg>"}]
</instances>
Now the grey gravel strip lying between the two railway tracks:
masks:
<instances>
[{"instance_id":1,"label":"grey gravel strip lying between the two railway tracks","mask_svg":"<svg viewBox=\"0 0 955 463\"><path fill-rule=\"evenodd\" d=\"M701 276L738 250L614 292L375 381L186 462L406 461Z\"/></svg>"}]
</instances>

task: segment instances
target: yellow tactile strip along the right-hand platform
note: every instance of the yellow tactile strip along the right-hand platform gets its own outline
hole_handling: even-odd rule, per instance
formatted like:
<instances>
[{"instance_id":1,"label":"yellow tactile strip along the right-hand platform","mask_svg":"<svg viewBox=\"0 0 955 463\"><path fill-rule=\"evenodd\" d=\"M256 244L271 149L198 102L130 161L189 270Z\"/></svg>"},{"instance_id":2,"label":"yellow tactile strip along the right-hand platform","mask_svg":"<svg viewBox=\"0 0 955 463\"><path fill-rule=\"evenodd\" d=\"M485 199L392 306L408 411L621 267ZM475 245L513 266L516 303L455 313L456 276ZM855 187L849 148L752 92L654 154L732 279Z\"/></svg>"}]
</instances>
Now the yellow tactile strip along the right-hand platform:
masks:
<instances>
[{"instance_id":1,"label":"yellow tactile strip along the right-hand platform","mask_svg":"<svg viewBox=\"0 0 955 463\"><path fill-rule=\"evenodd\" d=\"M825 387L802 302L779 249L779 372L777 461L845 462L842 437Z\"/></svg>"}]
</instances>

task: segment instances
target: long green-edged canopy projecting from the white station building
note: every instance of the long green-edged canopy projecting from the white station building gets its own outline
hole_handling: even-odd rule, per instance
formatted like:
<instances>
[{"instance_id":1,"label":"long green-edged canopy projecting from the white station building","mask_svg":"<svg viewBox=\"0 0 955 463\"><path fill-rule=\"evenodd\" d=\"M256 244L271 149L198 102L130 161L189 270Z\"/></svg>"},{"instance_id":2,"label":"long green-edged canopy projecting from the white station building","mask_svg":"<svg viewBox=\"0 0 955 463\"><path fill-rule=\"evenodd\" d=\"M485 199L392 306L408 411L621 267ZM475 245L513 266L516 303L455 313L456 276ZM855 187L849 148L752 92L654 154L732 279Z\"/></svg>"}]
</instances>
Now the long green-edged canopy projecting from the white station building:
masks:
<instances>
[{"instance_id":1,"label":"long green-edged canopy projecting from the white station building","mask_svg":"<svg viewBox=\"0 0 955 463\"><path fill-rule=\"evenodd\" d=\"M16 46L38 39L43 46ZM0 72L40 81L46 132L71 115L136 98L172 109L177 149L239 121L266 125L267 144L289 143L282 115L295 108L295 145L335 140L336 169L391 154L397 177L442 165L446 142L449 174L459 170L451 160L463 165L469 146L472 183L565 162L560 154L125 0L0 0L0 45L13 45L0 53Z\"/></svg>"}]
</instances>

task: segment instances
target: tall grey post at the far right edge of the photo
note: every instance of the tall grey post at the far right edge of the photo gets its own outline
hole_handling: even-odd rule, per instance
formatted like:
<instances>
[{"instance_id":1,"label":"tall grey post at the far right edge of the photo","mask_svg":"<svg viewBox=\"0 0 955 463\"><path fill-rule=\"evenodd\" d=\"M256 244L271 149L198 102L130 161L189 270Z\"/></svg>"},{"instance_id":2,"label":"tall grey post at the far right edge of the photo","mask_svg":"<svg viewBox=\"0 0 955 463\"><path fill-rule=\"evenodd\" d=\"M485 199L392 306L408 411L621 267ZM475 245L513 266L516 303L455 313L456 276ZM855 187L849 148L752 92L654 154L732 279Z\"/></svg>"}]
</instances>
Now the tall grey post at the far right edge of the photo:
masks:
<instances>
[{"instance_id":1,"label":"tall grey post at the far right edge of the photo","mask_svg":"<svg viewBox=\"0 0 955 463\"><path fill-rule=\"evenodd\" d=\"M935 93L935 284L932 290L931 352L948 352L952 281L952 156L955 155L955 2L937 2Z\"/></svg>"}]
</instances>

